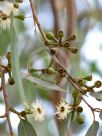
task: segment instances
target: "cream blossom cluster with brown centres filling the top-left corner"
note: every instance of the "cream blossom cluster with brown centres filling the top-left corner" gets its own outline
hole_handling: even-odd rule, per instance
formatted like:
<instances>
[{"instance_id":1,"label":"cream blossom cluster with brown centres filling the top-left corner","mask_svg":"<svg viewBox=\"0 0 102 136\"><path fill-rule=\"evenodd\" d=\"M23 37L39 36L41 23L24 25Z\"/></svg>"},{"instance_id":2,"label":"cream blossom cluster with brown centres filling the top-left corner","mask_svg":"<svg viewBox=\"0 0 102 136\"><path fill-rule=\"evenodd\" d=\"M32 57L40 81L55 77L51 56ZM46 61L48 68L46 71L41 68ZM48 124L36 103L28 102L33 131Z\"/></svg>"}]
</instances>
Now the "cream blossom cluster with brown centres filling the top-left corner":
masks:
<instances>
[{"instance_id":1,"label":"cream blossom cluster with brown centres filling the top-left corner","mask_svg":"<svg viewBox=\"0 0 102 136\"><path fill-rule=\"evenodd\" d=\"M11 14L16 18L19 15L19 6L23 0L0 0L0 28L2 30L10 29Z\"/></svg>"}]
</instances>

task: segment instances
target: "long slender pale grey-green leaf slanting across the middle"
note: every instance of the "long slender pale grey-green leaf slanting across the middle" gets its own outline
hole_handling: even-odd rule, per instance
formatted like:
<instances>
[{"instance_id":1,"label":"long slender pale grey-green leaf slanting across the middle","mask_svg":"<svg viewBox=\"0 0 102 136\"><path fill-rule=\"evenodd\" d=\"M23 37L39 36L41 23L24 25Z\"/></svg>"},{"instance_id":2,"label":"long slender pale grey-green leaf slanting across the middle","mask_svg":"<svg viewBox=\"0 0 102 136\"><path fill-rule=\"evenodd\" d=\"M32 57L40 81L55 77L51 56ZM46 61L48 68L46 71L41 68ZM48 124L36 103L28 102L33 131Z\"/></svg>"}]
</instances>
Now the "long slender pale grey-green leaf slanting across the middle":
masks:
<instances>
[{"instance_id":1,"label":"long slender pale grey-green leaf slanting across the middle","mask_svg":"<svg viewBox=\"0 0 102 136\"><path fill-rule=\"evenodd\" d=\"M30 75L26 75L26 74L22 73L22 78L25 78L25 79L27 79L27 80L29 80L29 81L37 84L37 85L45 87L47 89L56 90L56 91L62 91L62 92L67 92L66 90L64 90L63 88L59 87L58 85L53 84L53 83L48 82L48 81L41 80L38 77L32 77Z\"/></svg>"}]
</instances>

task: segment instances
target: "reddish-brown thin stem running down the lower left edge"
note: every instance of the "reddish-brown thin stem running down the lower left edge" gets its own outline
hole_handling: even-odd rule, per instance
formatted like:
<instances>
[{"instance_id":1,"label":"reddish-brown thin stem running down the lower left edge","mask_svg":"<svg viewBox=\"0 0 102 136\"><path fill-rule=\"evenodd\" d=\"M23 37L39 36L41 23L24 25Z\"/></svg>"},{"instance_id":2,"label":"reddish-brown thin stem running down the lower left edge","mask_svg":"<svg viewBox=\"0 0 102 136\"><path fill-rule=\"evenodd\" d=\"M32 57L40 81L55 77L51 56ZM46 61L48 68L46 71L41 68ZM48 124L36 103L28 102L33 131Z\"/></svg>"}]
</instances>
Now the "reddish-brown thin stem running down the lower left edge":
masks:
<instances>
[{"instance_id":1,"label":"reddish-brown thin stem running down the lower left edge","mask_svg":"<svg viewBox=\"0 0 102 136\"><path fill-rule=\"evenodd\" d=\"M3 96L4 96L4 102L5 102L5 115L7 116L7 122L8 122L8 126L9 126L10 136L13 136L13 129L12 129L10 116L9 116L9 104L8 104L7 91L6 91L6 87L5 87L4 75L2 77L2 89L3 89Z\"/></svg>"}]
</instances>

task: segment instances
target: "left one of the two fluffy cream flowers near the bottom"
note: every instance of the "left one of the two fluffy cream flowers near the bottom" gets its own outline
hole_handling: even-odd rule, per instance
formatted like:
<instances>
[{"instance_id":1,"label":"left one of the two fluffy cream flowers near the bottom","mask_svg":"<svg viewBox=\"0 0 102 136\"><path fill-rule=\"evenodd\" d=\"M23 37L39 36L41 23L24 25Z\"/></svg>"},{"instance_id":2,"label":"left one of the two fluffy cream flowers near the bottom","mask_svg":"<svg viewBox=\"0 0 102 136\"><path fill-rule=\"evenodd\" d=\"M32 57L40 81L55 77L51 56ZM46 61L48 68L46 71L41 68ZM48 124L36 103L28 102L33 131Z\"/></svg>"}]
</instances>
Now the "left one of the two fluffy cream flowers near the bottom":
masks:
<instances>
[{"instance_id":1,"label":"left one of the two fluffy cream flowers near the bottom","mask_svg":"<svg viewBox=\"0 0 102 136\"><path fill-rule=\"evenodd\" d=\"M39 100L33 101L32 113L36 121L42 122L45 119L45 109Z\"/></svg>"}]
</instances>

